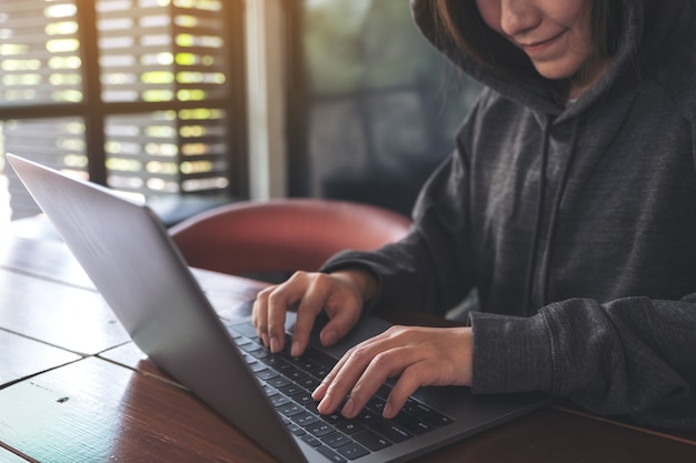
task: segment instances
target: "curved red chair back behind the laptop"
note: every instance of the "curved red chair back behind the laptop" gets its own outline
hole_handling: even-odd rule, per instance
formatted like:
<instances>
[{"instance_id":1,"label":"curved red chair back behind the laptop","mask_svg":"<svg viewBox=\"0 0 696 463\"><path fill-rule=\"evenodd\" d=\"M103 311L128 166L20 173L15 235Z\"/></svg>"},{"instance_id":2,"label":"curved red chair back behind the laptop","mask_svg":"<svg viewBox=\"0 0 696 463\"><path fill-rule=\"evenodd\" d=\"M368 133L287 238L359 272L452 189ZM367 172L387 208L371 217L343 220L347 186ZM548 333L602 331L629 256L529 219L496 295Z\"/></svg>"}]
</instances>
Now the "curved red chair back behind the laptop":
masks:
<instances>
[{"instance_id":1,"label":"curved red chair back behind the laptop","mask_svg":"<svg viewBox=\"0 0 696 463\"><path fill-rule=\"evenodd\" d=\"M278 281L296 270L318 270L339 251L397 241L409 228L408 218L379 207L292 198L218 207L170 234L191 266Z\"/></svg>"}]
</instances>

